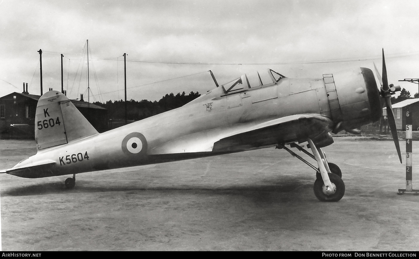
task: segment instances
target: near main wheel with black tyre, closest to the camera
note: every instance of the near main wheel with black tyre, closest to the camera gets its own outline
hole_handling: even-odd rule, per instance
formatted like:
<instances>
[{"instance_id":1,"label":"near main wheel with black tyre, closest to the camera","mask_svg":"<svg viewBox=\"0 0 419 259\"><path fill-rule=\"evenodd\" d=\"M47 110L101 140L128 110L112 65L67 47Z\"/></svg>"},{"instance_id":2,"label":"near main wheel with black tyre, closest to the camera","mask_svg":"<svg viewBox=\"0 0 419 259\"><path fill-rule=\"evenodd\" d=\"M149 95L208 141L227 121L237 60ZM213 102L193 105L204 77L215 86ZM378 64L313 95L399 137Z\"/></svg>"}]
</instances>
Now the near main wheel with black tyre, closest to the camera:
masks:
<instances>
[{"instance_id":1,"label":"near main wheel with black tyre, closest to the camera","mask_svg":"<svg viewBox=\"0 0 419 259\"><path fill-rule=\"evenodd\" d=\"M333 187L336 188L335 192L328 194L323 180L316 179L313 187L314 195L316 195L320 201L339 201L345 194L345 183L342 178L336 174L329 173L328 176Z\"/></svg>"}]
</instances>

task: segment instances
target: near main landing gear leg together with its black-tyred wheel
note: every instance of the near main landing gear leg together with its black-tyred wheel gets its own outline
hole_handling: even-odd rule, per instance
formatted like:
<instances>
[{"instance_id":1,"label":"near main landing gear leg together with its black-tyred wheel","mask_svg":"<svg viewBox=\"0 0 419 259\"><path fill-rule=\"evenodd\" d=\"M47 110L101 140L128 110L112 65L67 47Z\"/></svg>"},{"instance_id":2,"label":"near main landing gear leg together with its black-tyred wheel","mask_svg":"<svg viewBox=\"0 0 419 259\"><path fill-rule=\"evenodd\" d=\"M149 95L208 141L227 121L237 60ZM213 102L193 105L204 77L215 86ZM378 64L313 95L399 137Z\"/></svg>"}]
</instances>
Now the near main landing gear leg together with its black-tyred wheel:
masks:
<instances>
[{"instance_id":1,"label":"near main landing gear leg together with its black-tyred wheel","mask_svg":"<svg viewBox=\"0 0 419 259\"><path fill-rule=\"evenodd\" d=\"M321 178L314 182L314 195L321 201L338 201L345 194L345 184L342 179L332 174L328 166L326 156L321 148L317 148L313 141L308 138L311 151L317 160L318 168L320 170Z\"/></svg>"}]
</instances>

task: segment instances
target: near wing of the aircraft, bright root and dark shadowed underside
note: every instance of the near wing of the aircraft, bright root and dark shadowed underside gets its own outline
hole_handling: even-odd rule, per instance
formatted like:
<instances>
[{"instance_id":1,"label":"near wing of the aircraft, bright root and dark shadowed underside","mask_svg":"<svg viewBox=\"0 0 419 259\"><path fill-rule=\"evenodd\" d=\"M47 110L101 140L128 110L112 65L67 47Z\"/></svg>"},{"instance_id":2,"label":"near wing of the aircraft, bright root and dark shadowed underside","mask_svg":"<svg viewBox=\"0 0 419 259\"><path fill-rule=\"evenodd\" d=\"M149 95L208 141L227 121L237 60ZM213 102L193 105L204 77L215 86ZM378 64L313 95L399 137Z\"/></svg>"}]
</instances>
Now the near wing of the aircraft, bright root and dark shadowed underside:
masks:
<instances>
[{"instance_id":1,"label":"near wing of the aircraft, bright root and dark shadowed underside","mask_svg":"<svg viewBox=\"0 0 419 259\"><path fill-rule=\"evenodd\" d=\"M318 114L296 114L259 123L238 123L201 131L168 141L150 150L150 155L236 152L275 146L277 143L304 142L329 138L332 121Z\"/></svg>"}]
</instances>

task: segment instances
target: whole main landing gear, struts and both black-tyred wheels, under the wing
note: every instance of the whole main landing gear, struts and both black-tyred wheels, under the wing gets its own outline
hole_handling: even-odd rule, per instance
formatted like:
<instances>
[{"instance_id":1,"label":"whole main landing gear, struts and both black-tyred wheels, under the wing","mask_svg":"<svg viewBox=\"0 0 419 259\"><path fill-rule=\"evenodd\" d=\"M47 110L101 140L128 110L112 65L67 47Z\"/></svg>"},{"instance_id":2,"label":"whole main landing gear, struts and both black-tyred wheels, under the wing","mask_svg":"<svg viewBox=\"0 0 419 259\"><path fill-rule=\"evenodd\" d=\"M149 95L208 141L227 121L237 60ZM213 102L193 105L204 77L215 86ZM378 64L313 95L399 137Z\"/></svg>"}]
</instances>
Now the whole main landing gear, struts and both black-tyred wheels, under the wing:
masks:
<instances>
[{"instance_id":1,"label":"whole main landing gear, struts and both black-tyred wheels, under the wing","mask_svg":"<svg viewBox=\"0 0 419 259\"><path fill-rule=\"evenodd\" d=\"M285 149L292 156L297 157L305 164L316 170L316 181L314 182L313 189L314 194L319 200L339 201L345 194L345 184L341 179L341 169L336 164L328 163L323 150L321 150L321 148L317 148L310 138L308 138L307 141L310 145L313 155L295 143L290 144L290 146L297 148L298 150L304 152L311 158L315 159L317 161L318 168L307 162L301 156L292 152L284 145L278 144L277 148Z\"/></svg>"}]
</instances>

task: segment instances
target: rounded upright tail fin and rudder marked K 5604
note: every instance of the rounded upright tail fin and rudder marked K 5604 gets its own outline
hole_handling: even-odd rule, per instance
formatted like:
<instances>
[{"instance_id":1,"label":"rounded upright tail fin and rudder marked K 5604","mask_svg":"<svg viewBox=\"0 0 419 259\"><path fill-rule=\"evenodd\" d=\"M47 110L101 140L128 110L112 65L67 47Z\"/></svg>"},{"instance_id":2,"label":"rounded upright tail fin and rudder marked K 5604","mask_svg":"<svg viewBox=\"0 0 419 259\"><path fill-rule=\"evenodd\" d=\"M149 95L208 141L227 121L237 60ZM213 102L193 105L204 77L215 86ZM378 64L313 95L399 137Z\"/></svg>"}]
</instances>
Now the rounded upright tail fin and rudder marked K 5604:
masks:
<instances>
[{"instance_id":1,"label":"rounded upright tail fin and rudder marked K 5604","mask_svg":"<svg viewBox=\"0 0 419 259\"><path fill-rule=\"evenodd\" d=\"M98 131L62 93L49 91L39 98L35 115L38 150L95 134Z\"/></svg>"}]
</instances>

